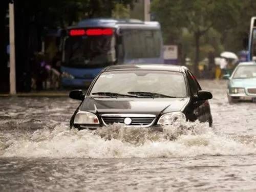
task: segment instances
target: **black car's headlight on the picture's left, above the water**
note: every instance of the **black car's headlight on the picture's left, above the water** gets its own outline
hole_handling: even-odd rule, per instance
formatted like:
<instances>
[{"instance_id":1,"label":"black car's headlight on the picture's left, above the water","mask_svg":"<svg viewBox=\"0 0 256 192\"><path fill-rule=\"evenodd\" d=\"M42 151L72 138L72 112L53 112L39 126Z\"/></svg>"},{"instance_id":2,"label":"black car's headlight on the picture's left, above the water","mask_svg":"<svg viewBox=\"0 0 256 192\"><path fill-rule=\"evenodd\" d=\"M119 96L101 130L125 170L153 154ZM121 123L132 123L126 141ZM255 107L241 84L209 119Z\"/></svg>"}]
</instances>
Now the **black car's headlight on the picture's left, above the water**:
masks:
<instances>
[{"instance_id":1,"label":"black car's headlight on the picture's left, above the water","mask_svg":"<svg viewBox=\"0 0 256 192\"><path fill-rule=\"evenodd\" d=\"M75 116L74 124L99 124L99 119L93 113L79 111Z\"/></svg>"}]
</instances>

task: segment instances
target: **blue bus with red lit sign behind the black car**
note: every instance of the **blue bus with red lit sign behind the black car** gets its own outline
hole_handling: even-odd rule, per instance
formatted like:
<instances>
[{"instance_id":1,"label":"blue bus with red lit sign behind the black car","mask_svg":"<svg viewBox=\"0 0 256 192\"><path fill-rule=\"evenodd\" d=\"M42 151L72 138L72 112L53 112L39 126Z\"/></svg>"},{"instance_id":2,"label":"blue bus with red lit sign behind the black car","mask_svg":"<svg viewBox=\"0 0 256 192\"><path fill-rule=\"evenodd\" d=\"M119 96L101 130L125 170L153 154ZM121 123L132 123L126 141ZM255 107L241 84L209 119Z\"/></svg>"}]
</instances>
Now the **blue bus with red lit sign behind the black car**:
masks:
<instances>
[{"instance_id":1,"label":"blue bus with red lit sign behind the black car","mask_svg":"<svg viewBox=\"0 0 256 192\"><path fill-rule=\"evenodd\" d=\"M87 87L110 65L164 62L160 24L137 19L81 20L67 29L61 53L63 87Z\"/></svg>"}]
</instances>

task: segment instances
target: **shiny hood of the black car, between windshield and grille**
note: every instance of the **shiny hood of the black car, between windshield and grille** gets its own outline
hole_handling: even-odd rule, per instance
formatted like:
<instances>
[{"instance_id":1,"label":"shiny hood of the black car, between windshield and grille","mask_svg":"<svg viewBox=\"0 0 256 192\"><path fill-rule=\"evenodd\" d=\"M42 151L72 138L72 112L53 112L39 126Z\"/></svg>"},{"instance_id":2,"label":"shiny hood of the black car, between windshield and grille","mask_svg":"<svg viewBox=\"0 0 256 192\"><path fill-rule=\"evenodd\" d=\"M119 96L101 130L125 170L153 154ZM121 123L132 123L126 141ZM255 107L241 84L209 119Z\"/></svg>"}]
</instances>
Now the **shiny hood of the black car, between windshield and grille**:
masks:
<instances>
[{"instance_id":1,"label":"shiny hood of the black car, between windshield and grille","mask_svg":"<svg viewBox=\"0 0 256 192\"><path fill-rule=\"evenodd\" d=\"M155 114L181 111L189 98L85 98L79 110L92 113Z\"/></svg>"}]
</instances>

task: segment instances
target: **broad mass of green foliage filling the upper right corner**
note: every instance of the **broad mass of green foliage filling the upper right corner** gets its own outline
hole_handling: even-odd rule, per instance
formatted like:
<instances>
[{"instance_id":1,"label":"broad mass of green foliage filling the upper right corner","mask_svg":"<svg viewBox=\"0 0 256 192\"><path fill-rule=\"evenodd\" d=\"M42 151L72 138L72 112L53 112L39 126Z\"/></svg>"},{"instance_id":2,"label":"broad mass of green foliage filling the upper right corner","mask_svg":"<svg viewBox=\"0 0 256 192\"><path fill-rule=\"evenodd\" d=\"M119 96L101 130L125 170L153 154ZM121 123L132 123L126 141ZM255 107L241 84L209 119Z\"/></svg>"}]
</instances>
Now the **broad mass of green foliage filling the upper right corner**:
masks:
<instances>
[{"instance_id":1,"label":"broad mass of green foliage filling the upper right corner","mask_svg":"<svg viewBox=\"0 0 256 192\"><path fill-rule=\"evenodd\" d=\"M256 2L154 0L151 10L161 23L165 43L182 44L183 56L194 58L197 64L210 51L218 55L223 50L243 49Z\"/></svg>"}]
</instances>

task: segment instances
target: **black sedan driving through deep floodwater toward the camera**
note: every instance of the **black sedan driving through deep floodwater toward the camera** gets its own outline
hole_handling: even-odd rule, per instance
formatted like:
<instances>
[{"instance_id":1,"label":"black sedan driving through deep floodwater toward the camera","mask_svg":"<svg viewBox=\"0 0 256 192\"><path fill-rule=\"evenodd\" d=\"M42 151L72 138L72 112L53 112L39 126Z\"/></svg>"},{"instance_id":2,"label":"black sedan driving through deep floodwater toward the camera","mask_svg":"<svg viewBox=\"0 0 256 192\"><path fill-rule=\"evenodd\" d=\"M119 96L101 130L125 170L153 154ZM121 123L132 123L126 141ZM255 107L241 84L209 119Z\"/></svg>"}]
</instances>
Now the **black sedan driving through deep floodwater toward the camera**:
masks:
<instances>
[{"instance_id":1,"label":"black sedan driving through deep floodwater toward the camera","mask_svg":"<svg viewBox=\"0 0 256 192\"><path fill-rule=\"evenodd\" d=\"M175 121L208 122L208 99L195 76L182 66L116 65L105 68L88 91L70 92L81 100L70 126L97 129L113 123L126 126L162 127Z\"/></svg>"}]
</instances>

